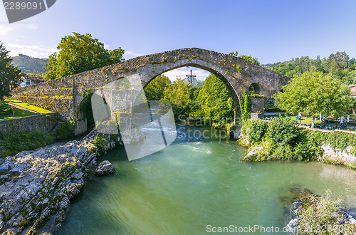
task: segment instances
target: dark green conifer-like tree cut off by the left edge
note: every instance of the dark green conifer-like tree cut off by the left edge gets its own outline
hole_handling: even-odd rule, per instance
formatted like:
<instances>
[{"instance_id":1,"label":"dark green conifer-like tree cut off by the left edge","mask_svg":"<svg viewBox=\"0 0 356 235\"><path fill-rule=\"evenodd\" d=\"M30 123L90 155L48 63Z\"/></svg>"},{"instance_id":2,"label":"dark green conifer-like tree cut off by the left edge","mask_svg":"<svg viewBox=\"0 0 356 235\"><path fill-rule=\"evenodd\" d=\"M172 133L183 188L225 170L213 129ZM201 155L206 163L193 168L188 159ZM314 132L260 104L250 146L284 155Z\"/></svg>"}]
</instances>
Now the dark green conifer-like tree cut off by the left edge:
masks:
<instances>
[{"instance_id":1,"label":"dark green conifer-like tree cut off by the left edge","mask_svg":"<svg viewBox=\"0 0 356 235\"><path fill-rule=\"evenodd\" d=\"M11 64L12 58L8 55L9 51L0 43L0 100L10 94L11 88L16 88L21 82L23 73Z\"/></svg>"}]
</instances>

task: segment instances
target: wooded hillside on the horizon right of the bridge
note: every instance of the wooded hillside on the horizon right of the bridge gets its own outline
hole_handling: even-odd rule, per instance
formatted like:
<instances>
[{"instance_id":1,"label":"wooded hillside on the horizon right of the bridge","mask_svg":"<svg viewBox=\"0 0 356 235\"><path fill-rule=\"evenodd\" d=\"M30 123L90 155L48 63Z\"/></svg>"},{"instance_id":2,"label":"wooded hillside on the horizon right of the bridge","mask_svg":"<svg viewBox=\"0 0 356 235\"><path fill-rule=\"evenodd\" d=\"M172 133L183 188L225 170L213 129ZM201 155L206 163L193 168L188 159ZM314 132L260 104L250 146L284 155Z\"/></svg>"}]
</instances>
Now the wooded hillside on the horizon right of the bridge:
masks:
<instances>
[{"instance_id":1,"label":"wooded hillside on the horizon right of the bridge","mask_svg":"<svg viewBox=\"0 0 356 235\"><path fill-rule=\"evenodd\" d=\"M344 52L331 53L328 58L311 59L308 56L293 58L291 61L267 64L264 67L281 73L290 78L301 75L305 72L321 72L338 78L342 83L349 85L356 83L356 59Z\"/></svg>"}]
</instances>

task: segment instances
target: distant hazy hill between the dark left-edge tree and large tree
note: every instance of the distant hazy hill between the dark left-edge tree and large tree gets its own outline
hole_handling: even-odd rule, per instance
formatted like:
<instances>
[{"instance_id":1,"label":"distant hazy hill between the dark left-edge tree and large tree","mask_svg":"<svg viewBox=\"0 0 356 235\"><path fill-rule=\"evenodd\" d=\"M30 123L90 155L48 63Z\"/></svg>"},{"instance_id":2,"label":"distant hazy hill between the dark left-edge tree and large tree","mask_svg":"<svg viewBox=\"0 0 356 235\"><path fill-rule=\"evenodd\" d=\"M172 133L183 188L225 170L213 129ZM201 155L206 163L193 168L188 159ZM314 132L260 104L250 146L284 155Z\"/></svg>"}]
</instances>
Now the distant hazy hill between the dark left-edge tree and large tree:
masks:
<instances>
[{"instance_id":1,"label":"distant hazy hill between the dark left-edge tree and large tree","mask_svg":"<svg viewBox=\"0 0 356 235\"><path fill-rule=\"evenodd\" d=\"M26 56L19 54L19 56L12 57L12 64L21 69L23 73L46 73L48 70L43 67L43 64L46 62L44 58L33 58L31 56Z\"/></svg>"}]
</instances>

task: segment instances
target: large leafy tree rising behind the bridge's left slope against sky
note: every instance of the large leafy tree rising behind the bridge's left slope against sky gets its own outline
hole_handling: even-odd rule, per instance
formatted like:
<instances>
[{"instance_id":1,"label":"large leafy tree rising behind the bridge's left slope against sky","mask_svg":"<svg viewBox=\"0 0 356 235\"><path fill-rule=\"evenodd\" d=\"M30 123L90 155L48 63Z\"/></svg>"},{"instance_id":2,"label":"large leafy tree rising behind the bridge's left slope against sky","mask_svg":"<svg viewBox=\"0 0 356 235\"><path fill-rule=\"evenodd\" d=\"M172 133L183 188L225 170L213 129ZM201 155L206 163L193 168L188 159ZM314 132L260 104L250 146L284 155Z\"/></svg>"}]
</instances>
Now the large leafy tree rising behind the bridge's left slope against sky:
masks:
<instances>
[{"instance_id":1,"label":"large leafy tree rising behind the bridge's left slope against sky","mask_svg":"<svg viewBox=\"0 0 356 235\"><path fill-rule=\"evenodd\" d=\"M107 50L104 43L93 38L90 33L73 33L73 36L61 38L58 45L59 53L53 53L44 64L49 70L44 79L52 80L73 75L94 68L108 66L123 61L122 48Z\"/></svg>"}]
</instances>

